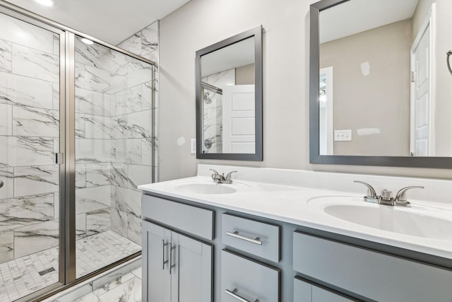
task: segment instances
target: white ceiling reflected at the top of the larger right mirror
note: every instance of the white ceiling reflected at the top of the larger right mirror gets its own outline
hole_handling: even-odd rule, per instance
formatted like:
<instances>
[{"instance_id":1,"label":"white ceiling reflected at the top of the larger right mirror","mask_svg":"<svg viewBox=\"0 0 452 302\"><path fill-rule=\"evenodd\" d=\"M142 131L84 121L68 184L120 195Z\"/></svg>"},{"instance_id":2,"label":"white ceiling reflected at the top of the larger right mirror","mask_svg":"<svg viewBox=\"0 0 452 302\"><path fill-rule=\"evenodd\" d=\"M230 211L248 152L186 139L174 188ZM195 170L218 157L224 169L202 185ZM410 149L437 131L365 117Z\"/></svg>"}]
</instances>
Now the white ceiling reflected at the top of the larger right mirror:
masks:
<instances>
[{"instance_id":1,"label":"white ceiling reflected at the top of the larger right mirror","mask_svg":"<svg viewBox=\"0 0 452 302\"><path fill-rule=\"evenodd\" d=\"M350 0L319 15L320 43L412 18L419 0Z\"/></svg>"}]
</instances>

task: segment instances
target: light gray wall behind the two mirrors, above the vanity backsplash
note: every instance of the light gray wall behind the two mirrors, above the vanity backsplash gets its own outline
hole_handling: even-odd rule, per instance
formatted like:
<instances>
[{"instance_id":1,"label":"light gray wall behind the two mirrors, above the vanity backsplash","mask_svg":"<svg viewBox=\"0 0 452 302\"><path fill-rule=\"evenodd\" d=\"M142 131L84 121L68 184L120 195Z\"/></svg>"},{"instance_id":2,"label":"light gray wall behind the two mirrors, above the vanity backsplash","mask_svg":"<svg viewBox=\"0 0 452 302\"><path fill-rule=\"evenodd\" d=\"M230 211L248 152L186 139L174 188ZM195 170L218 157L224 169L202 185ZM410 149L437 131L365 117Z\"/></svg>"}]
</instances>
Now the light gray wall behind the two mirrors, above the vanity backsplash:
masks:
<instances>
[{"instance_id":1,"label":"light gray wall behind the two mirrors, above the vanity backsplash","mask_svg":"<svg viewBox=\"0 0 452 302\"><path fill-rule=\"evenodd\" d=\"M197 163L452 178L450 170L441 169L309 164L309 5L314 2L191 0L160 21L160 180L195 175ZM196 137L195 52L259 24L265 30L264 161L196 160L189 146Z\"/></svg>"}]
</instances>

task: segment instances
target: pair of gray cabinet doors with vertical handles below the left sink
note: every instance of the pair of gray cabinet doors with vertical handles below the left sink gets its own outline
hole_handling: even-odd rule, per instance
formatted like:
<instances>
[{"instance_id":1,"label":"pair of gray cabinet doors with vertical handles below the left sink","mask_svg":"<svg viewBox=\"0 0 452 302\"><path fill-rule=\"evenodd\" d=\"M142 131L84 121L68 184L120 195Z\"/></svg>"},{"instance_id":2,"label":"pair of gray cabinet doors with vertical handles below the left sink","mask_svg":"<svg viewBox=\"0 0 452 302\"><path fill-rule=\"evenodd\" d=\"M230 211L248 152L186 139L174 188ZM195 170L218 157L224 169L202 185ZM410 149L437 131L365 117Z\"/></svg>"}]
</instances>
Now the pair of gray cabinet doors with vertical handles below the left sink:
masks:
<instances>
[{"instance_id":1,"label":"pair of gray cabinet doors with vertical handles below the left sink","mask_svg":"<svg viewBox=\"0 0 452 302\"><path fill-rule=\"evenodd\" d=\"M211 245L143 221L143 301L212 301Z\"/></svg>"}]
</instances>

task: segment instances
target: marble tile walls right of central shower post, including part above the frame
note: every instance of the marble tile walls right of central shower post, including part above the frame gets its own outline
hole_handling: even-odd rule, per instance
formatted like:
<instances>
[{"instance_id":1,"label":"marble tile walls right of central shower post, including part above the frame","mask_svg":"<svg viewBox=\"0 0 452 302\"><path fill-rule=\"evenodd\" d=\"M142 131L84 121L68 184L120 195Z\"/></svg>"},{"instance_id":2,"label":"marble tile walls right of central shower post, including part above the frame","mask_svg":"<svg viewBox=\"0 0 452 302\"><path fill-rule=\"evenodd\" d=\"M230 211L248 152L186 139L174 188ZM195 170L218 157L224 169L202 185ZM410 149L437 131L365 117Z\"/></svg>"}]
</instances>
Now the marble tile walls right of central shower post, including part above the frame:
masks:
<instances>
[{"instance_id":1,"label":"marble tile walls right of central shower post, including part above the frame","mask_svg":"<svg viewBox=\"0 0 452 302\"><path fill-rule=\"evenodd\" d=\"M156 61L158 24L154 24L119 47ZM157 106L152 106L151 71L149 64L124 54L76 42L79 238L112 229L141 244L141 191L136 187L152 182L151 169L156 168L152 127Z\"/></svg>"}]
</instances>

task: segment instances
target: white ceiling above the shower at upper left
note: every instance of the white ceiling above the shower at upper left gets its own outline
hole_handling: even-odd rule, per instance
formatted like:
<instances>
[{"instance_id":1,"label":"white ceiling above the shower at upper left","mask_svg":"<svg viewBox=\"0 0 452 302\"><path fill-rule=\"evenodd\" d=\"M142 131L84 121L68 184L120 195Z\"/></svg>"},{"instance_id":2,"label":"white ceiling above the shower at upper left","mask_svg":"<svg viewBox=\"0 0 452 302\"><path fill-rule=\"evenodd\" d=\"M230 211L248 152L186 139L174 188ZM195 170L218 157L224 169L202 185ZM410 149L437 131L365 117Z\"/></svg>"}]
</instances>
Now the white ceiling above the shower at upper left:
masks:
<instances>
[{"instance_id":1,"label":"white ceiling above the shower at upper left","mask_svg":"<svg viewBox=\"0 0 452 302\"><path fill-rule=\"evenodd\" d=\"M46 7L33 0L8 0L11 4L112 45L118 45L189 0L54 1L54 6Z\"/></svg>"}]
</instances>

